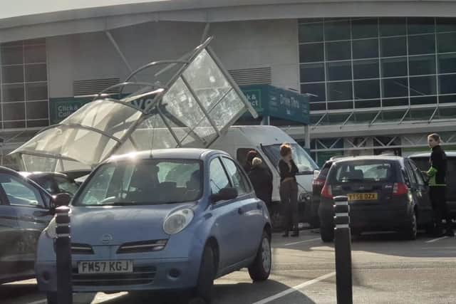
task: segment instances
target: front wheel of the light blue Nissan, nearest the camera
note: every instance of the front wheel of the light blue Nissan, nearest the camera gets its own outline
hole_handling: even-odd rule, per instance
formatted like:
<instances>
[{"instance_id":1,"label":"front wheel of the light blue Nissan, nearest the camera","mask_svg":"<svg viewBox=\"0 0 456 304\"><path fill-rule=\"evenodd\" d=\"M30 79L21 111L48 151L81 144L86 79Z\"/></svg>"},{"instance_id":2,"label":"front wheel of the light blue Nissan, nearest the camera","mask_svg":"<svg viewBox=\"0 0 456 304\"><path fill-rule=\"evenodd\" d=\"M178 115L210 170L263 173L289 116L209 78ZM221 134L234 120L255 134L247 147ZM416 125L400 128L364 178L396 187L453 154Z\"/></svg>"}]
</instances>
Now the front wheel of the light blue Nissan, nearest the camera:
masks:
<instances>
[{"instance_id":1,"label":"front wheel of the light blue Nissan, nearest the camera","mask_svg":"<svg viewBox=\"0 0 456 304\"><path fill-rule=\"evenodd\" d=\"M212 287L215 278L215 258L214 251L210 245L204 247L202 261L199 266L199 276L195 289L196 297L204 300L204 303L211 303Z\"/></svg>"}]
</instances>

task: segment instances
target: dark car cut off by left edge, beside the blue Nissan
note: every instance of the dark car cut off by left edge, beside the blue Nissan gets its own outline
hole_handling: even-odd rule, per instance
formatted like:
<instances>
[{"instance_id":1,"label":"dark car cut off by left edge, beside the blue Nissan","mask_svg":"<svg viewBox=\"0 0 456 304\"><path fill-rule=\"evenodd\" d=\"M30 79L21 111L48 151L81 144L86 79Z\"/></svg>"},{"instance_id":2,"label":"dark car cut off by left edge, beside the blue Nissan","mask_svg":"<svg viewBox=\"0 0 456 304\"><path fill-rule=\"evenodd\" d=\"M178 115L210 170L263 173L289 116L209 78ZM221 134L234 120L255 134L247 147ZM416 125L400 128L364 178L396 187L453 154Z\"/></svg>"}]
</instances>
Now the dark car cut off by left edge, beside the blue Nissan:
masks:
<instances>
[{"instance_id":1,"label":"dark car cut off by left edge, beside the blue Nissan","mask_svg":"<svg viewBox=\"0 0 456 304\"><path fill-rule=\"evenodd\" d=\"M53 217L51 199L35 182L0 167L0 283L35 276L36 243Z\"/></svg>"}]
</instances>

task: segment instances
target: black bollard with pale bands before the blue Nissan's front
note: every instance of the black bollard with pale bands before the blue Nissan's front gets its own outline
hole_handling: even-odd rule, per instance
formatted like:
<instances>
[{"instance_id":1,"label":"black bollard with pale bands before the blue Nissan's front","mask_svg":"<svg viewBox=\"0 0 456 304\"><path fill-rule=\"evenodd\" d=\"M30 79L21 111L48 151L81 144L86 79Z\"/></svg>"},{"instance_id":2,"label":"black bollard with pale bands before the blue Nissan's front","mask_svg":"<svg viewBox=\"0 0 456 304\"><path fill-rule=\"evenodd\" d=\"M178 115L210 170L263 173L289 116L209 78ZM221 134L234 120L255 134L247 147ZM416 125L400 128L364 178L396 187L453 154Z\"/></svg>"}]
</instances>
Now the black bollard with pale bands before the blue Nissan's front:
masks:
<instances>
[{"instance_id":1,"label":"black bollard with pale bands before the blue Nissan's front","mask_svg":"<svg viewBox=\"0 0 456 304\"><path fill-rule=\"evenodd\" d=\"M57 303L73 303L73 287L71 283L71 236L70 208L56 208L56 261L57 261Z\"/></svg>"}]
</instances>

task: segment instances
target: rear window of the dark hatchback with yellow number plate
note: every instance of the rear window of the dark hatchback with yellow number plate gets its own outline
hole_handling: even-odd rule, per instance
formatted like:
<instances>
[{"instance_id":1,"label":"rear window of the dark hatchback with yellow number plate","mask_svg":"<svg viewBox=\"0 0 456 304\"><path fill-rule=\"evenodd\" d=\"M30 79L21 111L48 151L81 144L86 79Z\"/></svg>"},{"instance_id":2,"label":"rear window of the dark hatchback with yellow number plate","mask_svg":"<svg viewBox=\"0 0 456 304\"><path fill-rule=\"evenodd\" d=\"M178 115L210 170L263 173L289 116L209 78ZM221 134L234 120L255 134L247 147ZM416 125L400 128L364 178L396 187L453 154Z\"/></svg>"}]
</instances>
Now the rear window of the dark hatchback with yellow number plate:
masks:
<instances>
[{"instance_id":1,"label":"rear window of the dark hatchback with yellow number plate","mask_svg":"<svg viewBox=\"0 0 456 304\"><path fill-rule=\"evenodd\" d=\"M336 163L331 169L331 182L391 182L394 178L394 163L382 159L359 159Z\"/></svg>"}]
</instances>

